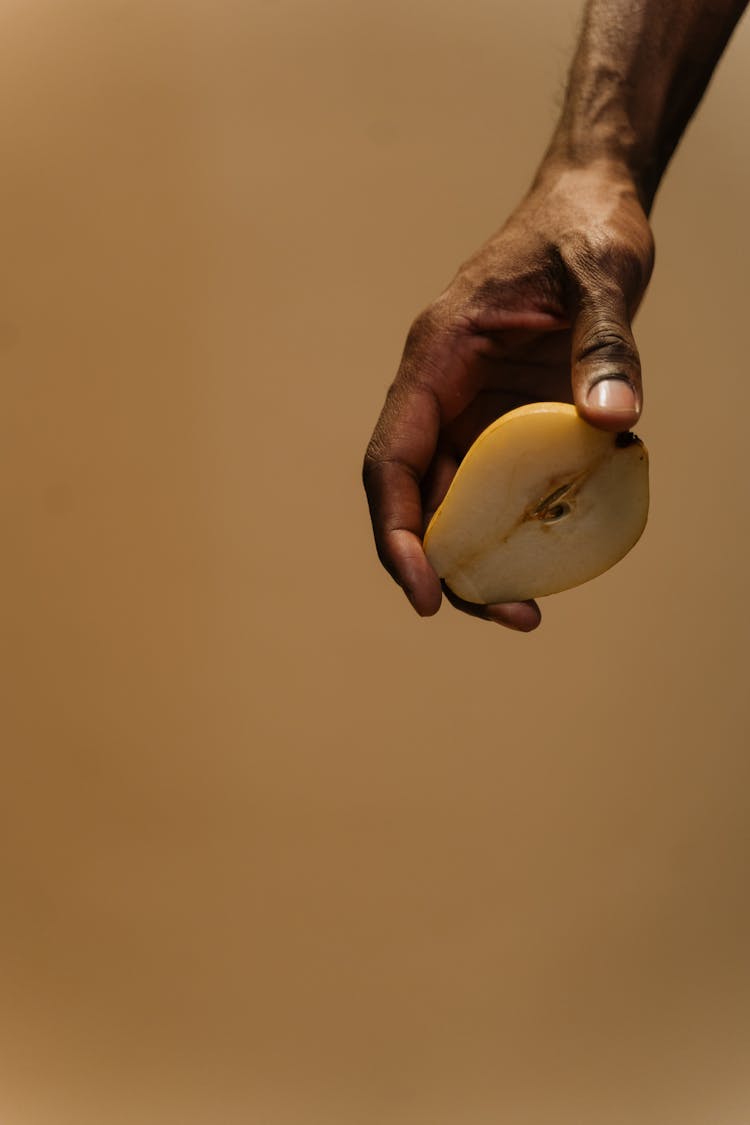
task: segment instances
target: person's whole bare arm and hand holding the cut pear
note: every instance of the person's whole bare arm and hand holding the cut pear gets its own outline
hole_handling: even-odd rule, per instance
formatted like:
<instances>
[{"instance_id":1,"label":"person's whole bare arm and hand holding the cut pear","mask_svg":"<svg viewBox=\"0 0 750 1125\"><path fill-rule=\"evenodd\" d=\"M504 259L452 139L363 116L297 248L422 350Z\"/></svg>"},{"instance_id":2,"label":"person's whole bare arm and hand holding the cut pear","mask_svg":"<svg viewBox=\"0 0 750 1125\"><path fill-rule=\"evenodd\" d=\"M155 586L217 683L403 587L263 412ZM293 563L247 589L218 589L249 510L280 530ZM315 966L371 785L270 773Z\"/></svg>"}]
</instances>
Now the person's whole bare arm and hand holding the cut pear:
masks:
<instances>
[{"instance_id":1,"label":"person's whole bare arm and hand holding the cut pear","mask_svg":"<svg viewBox=\"0 0 750 1125\"><path fill-rule=\"evenodd\" d=\"M650 210L744 2L591 0L562 116L521 206L414 322L364 460L378 555L422 616L527 632L534 602L478 606L422 549L469 446L530 402L623 431L643 388L632 318L653 267Z\"/></svg>"}]
</instances>

